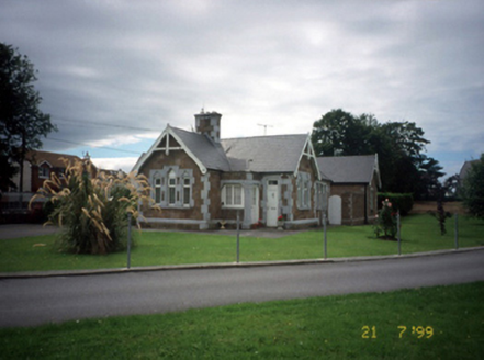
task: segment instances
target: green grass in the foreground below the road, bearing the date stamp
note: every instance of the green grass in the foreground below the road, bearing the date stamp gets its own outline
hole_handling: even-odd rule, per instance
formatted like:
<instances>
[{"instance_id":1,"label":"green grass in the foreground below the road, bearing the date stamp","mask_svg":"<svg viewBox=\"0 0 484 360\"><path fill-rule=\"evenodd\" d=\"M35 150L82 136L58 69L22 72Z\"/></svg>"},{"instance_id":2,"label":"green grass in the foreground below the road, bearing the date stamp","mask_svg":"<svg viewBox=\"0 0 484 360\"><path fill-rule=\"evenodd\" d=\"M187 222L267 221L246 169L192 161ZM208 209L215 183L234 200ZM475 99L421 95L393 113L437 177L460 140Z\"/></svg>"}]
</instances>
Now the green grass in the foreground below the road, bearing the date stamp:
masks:
<instances>
[{"instance_id":1,"label":"green grass in the foreground below the road, bearing the date stamp","mask_svg":"<svg viewBox=\"0 0 484 360\"><path fill-rule=\"evenodd\" d=\"M0 329L0 353L3 359L483 359L482 299L479 282L75 320Z\"/></svg>"}]
</instances>

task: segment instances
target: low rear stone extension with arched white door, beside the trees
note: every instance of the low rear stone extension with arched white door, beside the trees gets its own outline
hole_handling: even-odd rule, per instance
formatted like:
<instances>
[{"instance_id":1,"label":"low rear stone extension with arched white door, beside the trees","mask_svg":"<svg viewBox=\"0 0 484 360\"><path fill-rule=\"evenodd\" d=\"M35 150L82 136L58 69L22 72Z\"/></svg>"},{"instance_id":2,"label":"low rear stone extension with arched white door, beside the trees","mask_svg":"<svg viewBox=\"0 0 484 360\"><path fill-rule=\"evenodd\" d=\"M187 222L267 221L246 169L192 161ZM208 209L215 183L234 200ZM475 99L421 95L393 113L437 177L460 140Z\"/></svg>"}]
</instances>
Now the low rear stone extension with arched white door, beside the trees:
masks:
<instances>
[{"instance_id":1,"label":"low rear stone extension with arched white door, beside the trees","mask_svg":"<svg viewBox=\"0 0 484 360\"><path fill-rule=\"evenodd\" d=\"M378 155L318 157L317 162L331 180L329 223L371 223L378 212L381 188Z\"/></svg>"}]
</instances>

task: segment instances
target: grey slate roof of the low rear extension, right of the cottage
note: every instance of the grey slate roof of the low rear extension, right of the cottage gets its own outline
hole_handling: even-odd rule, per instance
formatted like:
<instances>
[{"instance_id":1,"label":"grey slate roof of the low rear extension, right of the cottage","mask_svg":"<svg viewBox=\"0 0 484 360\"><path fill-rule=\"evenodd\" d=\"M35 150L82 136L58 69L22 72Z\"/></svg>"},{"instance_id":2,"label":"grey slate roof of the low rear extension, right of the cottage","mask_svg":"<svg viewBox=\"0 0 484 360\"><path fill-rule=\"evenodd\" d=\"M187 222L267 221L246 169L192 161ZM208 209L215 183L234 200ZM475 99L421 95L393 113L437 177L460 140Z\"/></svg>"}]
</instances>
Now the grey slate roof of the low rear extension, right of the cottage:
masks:
<instances>
[{"instance_id":1,"label":"grey slate roof of the low rear extension, right of the cottage","mask_svg":"<svg viewBox=\"0 0 484 360\"><path fill-rule=\"evenodd\" d=\"M376 172L381 187L376 155L318 157L317 162L320 171L329 175L335 183L370 183Z\"/></svg>"}]
</instances>

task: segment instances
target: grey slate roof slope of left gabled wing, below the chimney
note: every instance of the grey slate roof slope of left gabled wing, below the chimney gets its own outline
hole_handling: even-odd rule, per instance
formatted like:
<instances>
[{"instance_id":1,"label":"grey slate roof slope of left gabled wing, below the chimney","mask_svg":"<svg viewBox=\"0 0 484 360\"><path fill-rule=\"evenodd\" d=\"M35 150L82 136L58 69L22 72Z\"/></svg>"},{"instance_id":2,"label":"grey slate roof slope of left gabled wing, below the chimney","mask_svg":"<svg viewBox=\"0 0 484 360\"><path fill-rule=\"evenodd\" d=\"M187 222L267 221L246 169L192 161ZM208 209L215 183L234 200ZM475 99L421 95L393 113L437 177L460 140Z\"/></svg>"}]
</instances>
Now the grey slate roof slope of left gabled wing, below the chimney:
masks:
<instances>
[{"instance_id":1,"label":"grey slate roof slope of left gabled wing, below the chimney","mask_svg":"<svg viewBox=\"0 0 484 360\"><path fill-rule=\"evenodd\" d=\"M216 144L210 137L202 134L177 127L171 127L171 131L183 142L190 151L199 158L205 168L221 171L230 170L227 157L220 144Z\"/></svg>"}]
</instances>

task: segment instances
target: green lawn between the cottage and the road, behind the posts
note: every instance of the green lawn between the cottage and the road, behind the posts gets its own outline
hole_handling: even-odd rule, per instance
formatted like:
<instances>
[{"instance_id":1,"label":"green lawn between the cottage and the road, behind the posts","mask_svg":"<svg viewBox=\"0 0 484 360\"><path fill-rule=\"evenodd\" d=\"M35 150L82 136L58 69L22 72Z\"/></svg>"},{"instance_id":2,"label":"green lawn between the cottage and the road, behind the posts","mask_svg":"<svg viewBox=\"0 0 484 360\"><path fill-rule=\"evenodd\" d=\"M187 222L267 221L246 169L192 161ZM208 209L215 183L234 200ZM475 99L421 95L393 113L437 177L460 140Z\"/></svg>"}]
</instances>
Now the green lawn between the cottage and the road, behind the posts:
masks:
<instances>
[{"instance_id":1,"label":"green lawn between the cottage and the road, behind the posts","mask_svg":"<svg viewBox=\"0 0 484 360\"><path fill-rule=\"evenodd\" d=\"M459 223L460 247L484 246L483 221L461 216ZM453 220L448 221L447 227L448 234L440 236L438 223L430 215L405 217L402 252L453 248ZM235 236L166 232L134 232L134 235L137 246L132 251L132 267L236 260ZM397 244L376 239L372 226L329 227L327 238L328 258L397 254ZM54 243L52 235L0 240L0 272L126 267L125 252L109 256L60 254L55 250ZM278 239L240 238L243 262L323 257L322 229Z\"/></svg>"}]
</instances>

